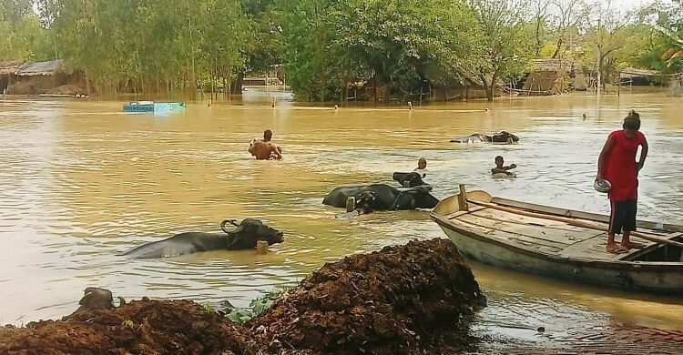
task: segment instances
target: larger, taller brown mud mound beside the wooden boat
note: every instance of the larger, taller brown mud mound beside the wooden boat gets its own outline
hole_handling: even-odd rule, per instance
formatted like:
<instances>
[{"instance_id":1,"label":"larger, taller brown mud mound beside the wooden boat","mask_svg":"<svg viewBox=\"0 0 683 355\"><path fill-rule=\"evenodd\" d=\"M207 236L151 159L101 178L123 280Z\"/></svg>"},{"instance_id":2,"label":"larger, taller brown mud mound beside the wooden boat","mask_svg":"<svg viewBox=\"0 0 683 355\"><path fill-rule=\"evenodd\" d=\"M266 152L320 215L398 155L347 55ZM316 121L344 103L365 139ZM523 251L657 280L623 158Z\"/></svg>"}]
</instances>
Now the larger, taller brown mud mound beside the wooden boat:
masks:
<instances>
[{"instance_id":1,"label":"larger, taller brown mud mound beside the wooden boat","mask_svg":"<svg viewBox=\"0 0 683 355\"><path fill-rule=\"evenodd\" d=\"M326 264L247 326L269 353L459 350L484 303L452 242L411 241Z\"/></svg>"}]
</instances>

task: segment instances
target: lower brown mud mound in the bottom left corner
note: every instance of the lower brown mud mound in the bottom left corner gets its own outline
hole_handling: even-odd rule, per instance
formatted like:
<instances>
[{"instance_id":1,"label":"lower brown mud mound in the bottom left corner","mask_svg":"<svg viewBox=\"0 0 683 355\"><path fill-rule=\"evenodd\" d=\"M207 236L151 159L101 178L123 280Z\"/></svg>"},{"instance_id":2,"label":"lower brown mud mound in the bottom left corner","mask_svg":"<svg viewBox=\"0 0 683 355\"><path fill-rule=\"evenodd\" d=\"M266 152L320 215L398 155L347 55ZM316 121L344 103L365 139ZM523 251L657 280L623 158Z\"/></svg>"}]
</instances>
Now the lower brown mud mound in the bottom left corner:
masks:
<instances>
[{"instance_id":1,"label":"lower brown mud mound in the bottom left corner","mask_svg":"<svg viewBox=\"0 0 683 355\"><path fill-rule=\"evenodd\" d=\"M2 354L243 353L247 330L189 300L132 301L0 329ZM252 351L253 352L253 351Z\"/></svg>"}]
</instances>

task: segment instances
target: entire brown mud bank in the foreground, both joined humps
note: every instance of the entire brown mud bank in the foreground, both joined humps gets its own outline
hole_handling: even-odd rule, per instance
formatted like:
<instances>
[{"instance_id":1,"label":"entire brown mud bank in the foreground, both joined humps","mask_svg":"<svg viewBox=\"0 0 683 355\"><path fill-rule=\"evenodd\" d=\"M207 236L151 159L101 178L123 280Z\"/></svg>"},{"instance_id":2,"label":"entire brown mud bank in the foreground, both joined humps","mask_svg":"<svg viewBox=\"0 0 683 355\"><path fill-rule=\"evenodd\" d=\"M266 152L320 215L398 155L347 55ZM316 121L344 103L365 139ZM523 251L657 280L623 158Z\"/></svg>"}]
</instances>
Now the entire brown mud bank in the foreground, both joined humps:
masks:
<instances>
[{"instance_id":1,"label":"entire brown mud bank in the foreground, both joined humps","mask_svg":"<svg viewBox=\"0 0 683 355\"><path fill-rule=\"evenodd\" d=\"M189 300L142 299L114 308L110 292L97 295L104 301L82 299L81 309L62 320L0 327L0 353L451 352L472 343L468 316L485 303L446 239L328 263L246 327Z\"/></svg>"}]
</instances>

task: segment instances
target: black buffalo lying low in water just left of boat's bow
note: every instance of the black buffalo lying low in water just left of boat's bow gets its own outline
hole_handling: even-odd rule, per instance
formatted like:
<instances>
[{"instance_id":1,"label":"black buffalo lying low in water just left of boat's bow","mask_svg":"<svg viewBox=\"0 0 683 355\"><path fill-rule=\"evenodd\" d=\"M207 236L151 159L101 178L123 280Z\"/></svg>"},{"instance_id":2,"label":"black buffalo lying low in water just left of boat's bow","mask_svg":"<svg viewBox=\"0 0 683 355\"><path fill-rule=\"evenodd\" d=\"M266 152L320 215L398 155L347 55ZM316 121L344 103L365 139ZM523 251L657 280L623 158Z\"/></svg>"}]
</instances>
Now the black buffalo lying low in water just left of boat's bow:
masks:
<instances>
[{"instance_id":1,"label":"black buffalo lying low in water just left of boat's bow","mask_svg":"<svg viewBox=\"0 0 683 355\"><path fill-rule=\"evenodd\" d=\"M361 200L363 192L372 191L373 210L404 210L414 208L433 208L439 203L429 192L432 187L419 186L414 188L392 188L386 184L349 186L335 188L327 195L322 203L338 208L346 207L349 197Z\"/></svg>"}]
</instances>

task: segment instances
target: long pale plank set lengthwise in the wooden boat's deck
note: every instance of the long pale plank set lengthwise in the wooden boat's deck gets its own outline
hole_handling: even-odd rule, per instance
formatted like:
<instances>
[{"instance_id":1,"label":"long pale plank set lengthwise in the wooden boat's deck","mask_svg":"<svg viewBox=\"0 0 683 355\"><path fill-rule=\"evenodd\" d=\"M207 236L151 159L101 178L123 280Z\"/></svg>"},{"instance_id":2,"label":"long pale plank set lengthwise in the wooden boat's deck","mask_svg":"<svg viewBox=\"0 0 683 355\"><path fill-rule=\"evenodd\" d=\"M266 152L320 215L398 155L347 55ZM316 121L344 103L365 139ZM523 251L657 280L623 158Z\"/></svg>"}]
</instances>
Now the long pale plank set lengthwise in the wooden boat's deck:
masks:
<instances>
[{"instance_id":1,"label":"long pale plank set lengthwise in the wooden boat's deck","mask_svg":"<svg viewBox=\"0 0 683 355\"><path fill-rule=\"evenodd\" d=\"M505 222L502 220L484 218L472 214L460 216L458 220L464 220L482 227L497 229L505 233L522 234L528 238L545 240L557 244L558 248L564 248L576 241L590 238L595 234L595 231L590 229L574 231L544 228L524 223Z\"/></svg>"}]
</instances>

